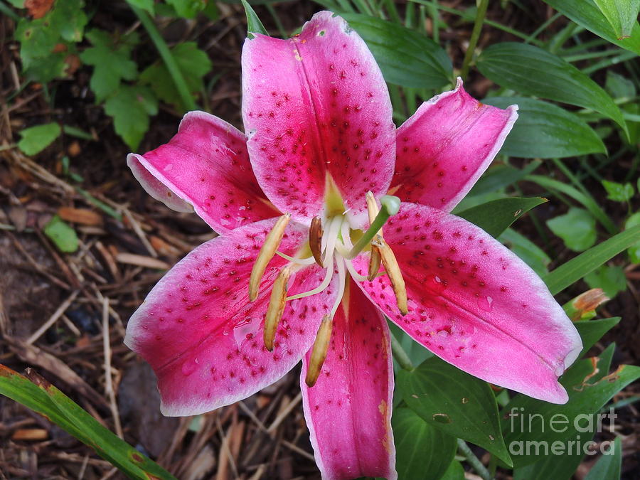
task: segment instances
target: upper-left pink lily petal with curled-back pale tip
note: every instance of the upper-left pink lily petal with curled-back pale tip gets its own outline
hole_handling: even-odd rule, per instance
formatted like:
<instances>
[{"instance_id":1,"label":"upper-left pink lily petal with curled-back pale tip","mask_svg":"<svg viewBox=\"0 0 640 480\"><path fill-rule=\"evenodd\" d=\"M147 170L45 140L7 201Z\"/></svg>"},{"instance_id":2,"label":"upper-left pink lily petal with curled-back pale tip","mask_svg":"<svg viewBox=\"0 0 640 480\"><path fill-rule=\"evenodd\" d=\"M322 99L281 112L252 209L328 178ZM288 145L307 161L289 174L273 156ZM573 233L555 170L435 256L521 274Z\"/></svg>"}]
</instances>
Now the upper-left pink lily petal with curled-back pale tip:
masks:
<instances>
[{"instance_id":1,"label":"upper-left pink lily petal with curled-back pale tip","mask_svg":"<svg viewBox=\"0 0 640 480\"><path fill-rule=\"evenodd\" d=\"M168 144L127 164L149 195L178 211L193 205L218 233L279 214L257 184L245 136L205 112L188 112Z\"/></svg>"}]
</instances>

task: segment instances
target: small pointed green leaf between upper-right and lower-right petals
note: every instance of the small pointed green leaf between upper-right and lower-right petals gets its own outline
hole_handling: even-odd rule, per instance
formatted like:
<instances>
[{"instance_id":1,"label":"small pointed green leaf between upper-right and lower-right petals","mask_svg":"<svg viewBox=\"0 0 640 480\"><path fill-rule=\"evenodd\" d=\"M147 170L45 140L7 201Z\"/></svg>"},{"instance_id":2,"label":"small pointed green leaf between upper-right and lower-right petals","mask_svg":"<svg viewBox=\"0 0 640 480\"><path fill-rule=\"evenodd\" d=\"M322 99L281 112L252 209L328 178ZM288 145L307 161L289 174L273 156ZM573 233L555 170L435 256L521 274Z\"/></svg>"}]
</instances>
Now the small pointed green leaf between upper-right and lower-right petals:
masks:
<instances>
[{"instance_id":1,"label":"small pointed green leaf between upper-right and lower-right petals","mask_svg":"<svg viewBox=\"0 0 640 480\"><path fill-rule=\"evenodd\" d=\"M459 217L469 220L469 222L478 225L480 228L497 238L508 228L511 223L515 222L522 215L527 213L531 208L545 203L546 198L519 198L509 197L494 200L483 205L479 205L469 210L457 213Z\"/></svg>"}]
</instances>

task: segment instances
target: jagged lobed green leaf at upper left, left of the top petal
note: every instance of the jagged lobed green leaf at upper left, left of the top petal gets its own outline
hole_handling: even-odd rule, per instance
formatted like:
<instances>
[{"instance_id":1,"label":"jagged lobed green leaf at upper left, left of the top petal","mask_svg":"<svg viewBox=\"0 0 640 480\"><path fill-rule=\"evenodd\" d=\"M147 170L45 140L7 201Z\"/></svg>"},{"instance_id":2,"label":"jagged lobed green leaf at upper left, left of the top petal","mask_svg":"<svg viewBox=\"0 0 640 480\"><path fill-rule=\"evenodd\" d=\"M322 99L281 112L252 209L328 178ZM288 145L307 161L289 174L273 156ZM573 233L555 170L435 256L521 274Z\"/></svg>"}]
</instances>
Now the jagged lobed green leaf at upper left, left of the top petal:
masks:
<instances>
[{"instance_id":1,"label":"jagged lobed green leaf at upper left, left of the top petal","mask_svg":"<svg viewBox=\"0 0 640 480\"><path fill-rule=\"evenodd\" d=\"M118 43L102 30L87 32L92 47L80 53L80 60L93 65L90 87L95 101L100 103L115 92L121 80L134 80L138 75L136 63L131 60L132 45Z\"/></svg>"}]
</instances>

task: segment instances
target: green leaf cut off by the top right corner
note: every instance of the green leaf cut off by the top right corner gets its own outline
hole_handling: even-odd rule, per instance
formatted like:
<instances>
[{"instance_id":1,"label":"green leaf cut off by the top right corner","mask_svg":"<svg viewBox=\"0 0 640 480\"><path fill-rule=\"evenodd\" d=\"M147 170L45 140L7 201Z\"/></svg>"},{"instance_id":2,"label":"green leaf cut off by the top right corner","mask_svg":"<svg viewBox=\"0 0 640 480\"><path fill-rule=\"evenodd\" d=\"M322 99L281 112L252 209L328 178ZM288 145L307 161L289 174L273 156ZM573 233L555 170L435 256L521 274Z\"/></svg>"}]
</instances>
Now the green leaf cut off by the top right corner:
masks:
<instances>
[{"instance_id":1,"label":"green leaf cut off by the top right corner","mask_svg":"<svg viewBox=\"0 0 640 480\"><path fill-rule=\"evenodd\" d=\"M640 26L636 22L631 28L631 37L619 39L612 26L598 9L593 0L544 0L545 3L553 6L562 15L567 16L572 21L587 30L592 31L597 36L604 38L614 45L631 50L640 55Z\"/></svg>"}]
</instances>

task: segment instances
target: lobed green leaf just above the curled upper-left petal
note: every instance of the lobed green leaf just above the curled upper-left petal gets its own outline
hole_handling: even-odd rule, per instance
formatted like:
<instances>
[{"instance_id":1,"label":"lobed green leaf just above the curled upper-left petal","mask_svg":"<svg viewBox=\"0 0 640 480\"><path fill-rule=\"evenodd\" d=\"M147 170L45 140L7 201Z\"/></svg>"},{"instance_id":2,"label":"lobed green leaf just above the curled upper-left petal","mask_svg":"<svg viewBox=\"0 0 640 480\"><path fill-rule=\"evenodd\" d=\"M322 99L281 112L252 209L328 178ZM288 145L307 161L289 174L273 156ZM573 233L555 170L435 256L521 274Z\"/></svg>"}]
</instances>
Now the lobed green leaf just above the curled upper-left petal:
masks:
<instances>
[{"instance_id":1,"label":"lobed green leaf just above the curled upper-left petal","mask_svg":"<svg viewBox=\"0 0 640 480\"><path fill-rule=\"evenodd\" d=\"M105 112L113 117L116 133L136 150L149 129L149 115L158 113L158 100L147 87L120 85L105 102Z\"/></svg>"}]
</instances>

